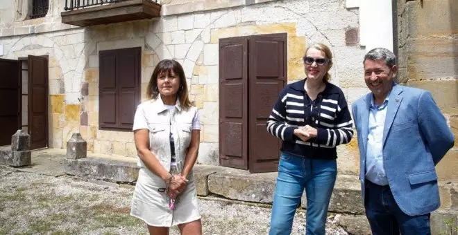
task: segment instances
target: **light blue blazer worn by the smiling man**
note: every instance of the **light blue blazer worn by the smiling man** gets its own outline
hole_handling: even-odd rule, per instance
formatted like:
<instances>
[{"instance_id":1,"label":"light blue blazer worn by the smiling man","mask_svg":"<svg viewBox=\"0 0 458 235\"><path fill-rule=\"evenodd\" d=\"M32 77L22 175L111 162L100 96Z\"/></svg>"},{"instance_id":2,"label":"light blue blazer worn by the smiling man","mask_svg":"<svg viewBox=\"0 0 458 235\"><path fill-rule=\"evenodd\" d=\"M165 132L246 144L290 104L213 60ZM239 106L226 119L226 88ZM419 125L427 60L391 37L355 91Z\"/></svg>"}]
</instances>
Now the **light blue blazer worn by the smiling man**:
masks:
<instances>
[{"instance_id":1,"label":"light blue blazer worn by the smiling man","mask_svg":"<svg viewBox=\"0 0 458 235\"><path fill-rule=\"evenodd\" d=\"M353 104L363 198L371 95ZM435 166L454 142L455 137L431 93L393 84L383 131L383 164L402 212L417 216L439 208Z\"/></svg>"}]
</instances>

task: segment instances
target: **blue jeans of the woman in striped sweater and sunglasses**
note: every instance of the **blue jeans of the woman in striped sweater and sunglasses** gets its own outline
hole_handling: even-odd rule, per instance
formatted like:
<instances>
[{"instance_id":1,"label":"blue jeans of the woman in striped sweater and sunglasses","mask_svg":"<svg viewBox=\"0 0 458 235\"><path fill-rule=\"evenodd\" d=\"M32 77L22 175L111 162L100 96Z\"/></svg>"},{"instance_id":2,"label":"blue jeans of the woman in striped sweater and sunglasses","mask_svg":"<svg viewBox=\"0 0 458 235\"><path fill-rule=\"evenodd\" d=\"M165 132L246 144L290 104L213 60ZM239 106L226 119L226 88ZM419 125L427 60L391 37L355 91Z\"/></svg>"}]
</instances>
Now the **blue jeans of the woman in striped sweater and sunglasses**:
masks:
<instances>
[{"instance_id":1,"label":"blue jeans of the woman in striped sweater and sunglasses","mask_svg":"<svg viewBox=\"0 0 458 235\"><path fill-rule=\"evenodd\" d=\"M304 189L307 194L306 234L325 234L328 205L336 176L336 160L311 160L282 153L269 235L291 234L294 214Z\"/></svg>"}]
</instances>

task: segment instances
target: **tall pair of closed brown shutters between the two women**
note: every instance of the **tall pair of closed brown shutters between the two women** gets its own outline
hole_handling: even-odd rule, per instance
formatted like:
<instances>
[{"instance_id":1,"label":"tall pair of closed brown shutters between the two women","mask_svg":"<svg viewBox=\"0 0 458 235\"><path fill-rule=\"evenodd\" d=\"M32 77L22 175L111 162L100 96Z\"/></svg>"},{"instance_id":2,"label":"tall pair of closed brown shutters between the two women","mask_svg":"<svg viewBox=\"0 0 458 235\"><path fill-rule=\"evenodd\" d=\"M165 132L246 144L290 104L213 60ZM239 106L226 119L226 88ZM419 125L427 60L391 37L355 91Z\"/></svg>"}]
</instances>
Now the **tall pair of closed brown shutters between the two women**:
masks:
<instances>
[{"instance_id":1,"label":"tall pair of closed brown shutters between the two women","mask_svg":"<svg viewBox=\"0 0 458 235\"><path fill-rule=\"evenodd\" d=\"M281 142L267 133L266 120L286 84L286 33L219 40L222 166L276 171Z\"/></svg>"}]
</instances>

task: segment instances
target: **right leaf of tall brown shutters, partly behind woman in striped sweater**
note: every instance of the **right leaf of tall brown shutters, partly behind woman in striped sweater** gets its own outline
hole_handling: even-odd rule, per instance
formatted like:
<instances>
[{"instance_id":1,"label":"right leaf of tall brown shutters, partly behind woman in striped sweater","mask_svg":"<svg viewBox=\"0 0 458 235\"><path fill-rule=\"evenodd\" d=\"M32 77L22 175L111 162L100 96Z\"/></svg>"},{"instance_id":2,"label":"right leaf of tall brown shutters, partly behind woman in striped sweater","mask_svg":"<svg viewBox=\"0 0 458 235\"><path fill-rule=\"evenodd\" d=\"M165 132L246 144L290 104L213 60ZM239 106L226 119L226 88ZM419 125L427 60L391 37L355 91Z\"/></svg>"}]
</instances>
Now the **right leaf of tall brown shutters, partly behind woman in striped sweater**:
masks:
<instances>
[{"instance_id":1,"label":"right leaf of tall brown shutters, partly behind woman in striped sweater","mask_svg":"<svg viewBox=\"0 0 458 235\"><path fill-rule=\"evenodd\" d=\"M276 171L281 141L266 131L278 94L287 84L287 34L255 35L249 40L249 169Z\"/></svg>"}]
</instances>

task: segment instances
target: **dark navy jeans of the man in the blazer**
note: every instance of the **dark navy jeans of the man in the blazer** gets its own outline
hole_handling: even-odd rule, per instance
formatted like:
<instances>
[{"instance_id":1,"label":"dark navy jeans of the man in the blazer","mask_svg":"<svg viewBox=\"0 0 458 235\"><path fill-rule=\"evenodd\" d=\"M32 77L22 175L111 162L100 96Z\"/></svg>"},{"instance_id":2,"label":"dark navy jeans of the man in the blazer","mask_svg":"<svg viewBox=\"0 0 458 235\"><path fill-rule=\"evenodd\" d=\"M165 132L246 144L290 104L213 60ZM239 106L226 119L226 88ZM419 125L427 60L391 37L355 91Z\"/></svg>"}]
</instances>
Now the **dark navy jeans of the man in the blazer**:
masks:
<instances>
[{"instance_id":1,"label":"dark navy jeans of the man in the blazer","mask_svg":"<svg viewBox=\"0 0 458 235\"><path fill-rule=\"evenodd\" d=\"M430 214L409 216L401 211L389 186L366 180L364 206L373 235L430 235Z\"/></svg>"}]
</instances>

